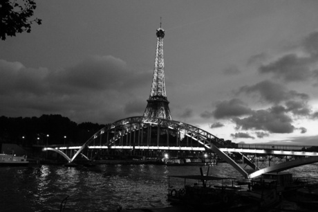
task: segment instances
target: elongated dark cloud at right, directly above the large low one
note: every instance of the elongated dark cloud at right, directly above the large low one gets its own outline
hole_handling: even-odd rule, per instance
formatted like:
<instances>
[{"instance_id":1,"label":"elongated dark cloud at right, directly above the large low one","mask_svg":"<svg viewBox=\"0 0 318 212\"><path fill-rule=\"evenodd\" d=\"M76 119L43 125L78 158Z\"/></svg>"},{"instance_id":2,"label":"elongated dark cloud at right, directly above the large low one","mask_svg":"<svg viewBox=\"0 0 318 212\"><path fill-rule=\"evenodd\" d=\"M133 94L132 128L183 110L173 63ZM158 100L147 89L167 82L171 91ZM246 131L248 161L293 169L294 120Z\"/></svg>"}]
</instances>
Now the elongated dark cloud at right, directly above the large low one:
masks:
<instances>
[{"instance_id":1,"label":"elongated dark cloud at right, directly above the large low one","mask_svg":"<svg viewBox=\"0 0 318 212\"><path fill-rule=\"evenodd\" d=\"M307 94L289 91L283 85L271 82L270 80L264 80L252 86L243 86L238 90L238 93L260 94L260 98L268 103L280 103L283 100L293 98L301 98L302 100L309 98Z\"/></svg>"}]
</instances>

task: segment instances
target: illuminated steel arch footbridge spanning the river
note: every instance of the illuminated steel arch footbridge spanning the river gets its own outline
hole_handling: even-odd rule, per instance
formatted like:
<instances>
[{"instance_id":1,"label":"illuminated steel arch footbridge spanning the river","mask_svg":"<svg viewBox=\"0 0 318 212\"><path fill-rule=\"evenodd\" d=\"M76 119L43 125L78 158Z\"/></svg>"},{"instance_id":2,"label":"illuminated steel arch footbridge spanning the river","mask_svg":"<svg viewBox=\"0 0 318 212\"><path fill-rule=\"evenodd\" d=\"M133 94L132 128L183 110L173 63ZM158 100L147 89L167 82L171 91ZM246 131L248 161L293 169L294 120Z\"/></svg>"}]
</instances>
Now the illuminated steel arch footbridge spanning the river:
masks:
<instances>
[{"instance_id":1,"label":"illuminated steel arch footbridge spanning the river","mask_svg":"<svg viewBox=\"0 0 318 212\"><path fill-rule=\"evenodd\" d=\"M198 147L193 147L192 142L197 143ZM298 161L289 166L280 165L277 168L271 166L270 169L265 168L263 170L258 170L252 162L249 162L248 165L250 165L255 171L254 173L249 174L239 164L236 164L231 157L225 154L223 150L226 147L228 147L228 143L225 142L224 139L219 139L217 136L214 136L213 134L194 125L162 118L133 116L106 125L101 130L93 134L93 136L91 136L91 138L88 139L88 141L86 141L82 146L73 147L73 149L77 149L77 152L73 155L73 157L68 157L62 151L69 149L66 147L44 148L44 150L53 150L62 154L69 163L73 162L75 158L79 154L82 154L83 150L86 148L127 148L131 150L212 150L212 152L216 153L218 157L221 157L221 159L227 161L227 163L238 170L238 172L245 178L257 177L262 173L286 170L295 166L315 163L318 161L318 157L312 157L310 160L307 159ZM220 148L223 148L223 150ZM84 156L84 154L82 155ZM247 159L247 157L244 158ZM88 158L86 157L86 159Z\"/></svg>"}]
</instances>

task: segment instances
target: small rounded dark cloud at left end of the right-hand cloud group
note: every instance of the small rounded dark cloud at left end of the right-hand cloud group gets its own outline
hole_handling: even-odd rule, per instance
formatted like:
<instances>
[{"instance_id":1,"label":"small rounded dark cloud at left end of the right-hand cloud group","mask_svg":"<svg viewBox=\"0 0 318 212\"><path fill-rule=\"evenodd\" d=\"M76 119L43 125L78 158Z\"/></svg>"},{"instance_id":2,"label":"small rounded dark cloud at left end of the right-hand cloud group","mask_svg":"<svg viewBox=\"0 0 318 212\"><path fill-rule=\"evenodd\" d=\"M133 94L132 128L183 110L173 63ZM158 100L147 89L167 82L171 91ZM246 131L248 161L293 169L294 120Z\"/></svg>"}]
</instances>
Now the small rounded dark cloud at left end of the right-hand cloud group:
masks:
<instances>
[{"instance_id":1,"label":"small rounded dark cloud at left end of the right-hand cloud group","mask_svg":"<svg viewBox=\"0 0 318 212\"><path fill-rule=\"evenodd\" d=\"M248 108L242 100L233 98L232 100L224 100L216 104L213 112L214 118L230 118L233 116L243 116L251 114L252 109Z\"/></svg>"}]
</instances>

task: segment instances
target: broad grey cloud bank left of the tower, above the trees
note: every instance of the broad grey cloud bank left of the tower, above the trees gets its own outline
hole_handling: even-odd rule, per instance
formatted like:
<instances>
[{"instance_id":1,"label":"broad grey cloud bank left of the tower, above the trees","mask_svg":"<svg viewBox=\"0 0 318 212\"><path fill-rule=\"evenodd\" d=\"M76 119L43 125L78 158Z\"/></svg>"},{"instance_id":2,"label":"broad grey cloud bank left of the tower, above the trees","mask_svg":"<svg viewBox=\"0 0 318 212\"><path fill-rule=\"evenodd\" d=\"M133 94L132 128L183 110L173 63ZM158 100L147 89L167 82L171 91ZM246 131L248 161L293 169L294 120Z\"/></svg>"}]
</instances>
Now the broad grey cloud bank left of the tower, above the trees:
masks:
<instances>
[{"instance_id":1,"label":"broad grey cloud bank left of the tower, above the trees","mask_svg":"<svg viewBox=\"0 0 318 212\"><path fill-rule=\"evenodd\" d=\"M146 107L147 96L140 93L149 89L152 77L148 71L130 70L126 62L111 55L86 58L59 70L0 60L0 73L2 114L62 114L76 122L95 123L142 116L143 111L139 114L136 108Z\"/></svg>"}]
</instances>

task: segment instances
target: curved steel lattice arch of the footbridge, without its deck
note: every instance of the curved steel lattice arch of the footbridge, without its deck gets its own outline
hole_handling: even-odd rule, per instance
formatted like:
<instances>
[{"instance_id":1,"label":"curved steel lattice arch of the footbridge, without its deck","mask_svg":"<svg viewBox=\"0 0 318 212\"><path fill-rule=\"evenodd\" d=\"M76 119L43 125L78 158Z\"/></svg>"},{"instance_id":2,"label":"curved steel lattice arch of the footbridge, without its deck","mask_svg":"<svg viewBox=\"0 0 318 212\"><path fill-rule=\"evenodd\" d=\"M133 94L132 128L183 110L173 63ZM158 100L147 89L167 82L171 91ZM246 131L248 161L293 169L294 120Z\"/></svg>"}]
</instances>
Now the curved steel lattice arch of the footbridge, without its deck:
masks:
<instances>
[{"instance_id":1,"label":"curved steel lattice arch of the footbridge, without its deck","mask_svg":"<svg viewBox=\"0 0 318 212\"><path fill-rule=\"evenodd\" d=\"M223 139L219 139L217 136L214 136L213 134L202 130L194 125L189 125L180 121L167 120L163 118L151 118L147 116L133 116L129 118L123 118L115 121L114 123L106 125L101 130L93 134L93 136L91 136L91 138L88 139L81 148L79 148L79 150L72 157L71 161L73 161L77 157L77 155L82 152L82 150L87 148L90 143L92 143L93 141L98 142L98 138L100 138L100 143L102 143L102 135L107 132L113 133L114 136L109 139L107 134L106 142L104 142L103 145L111 146L115 143L115 141L120 139L120 137L134 132L135 130L140 130L149 125L176 130L180 133L183 133L184 136L189 136L191 139L197 141L204 148L212 150L213 152L218 154L219 157L227 161L236 170L238 170L238 172L241 173L243 177L248 177L248 174L243 168L241 168L241 166L238 166L238 164L236 164L233 159L231 159L227 154L218 149L217 146L225 145Z\"/></svg>"}]
</instances>

